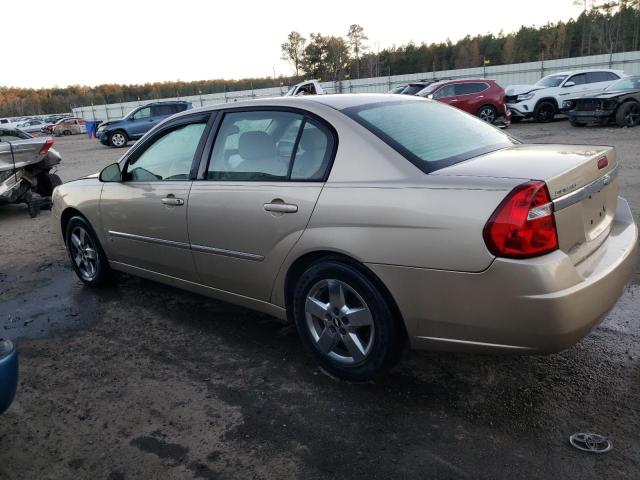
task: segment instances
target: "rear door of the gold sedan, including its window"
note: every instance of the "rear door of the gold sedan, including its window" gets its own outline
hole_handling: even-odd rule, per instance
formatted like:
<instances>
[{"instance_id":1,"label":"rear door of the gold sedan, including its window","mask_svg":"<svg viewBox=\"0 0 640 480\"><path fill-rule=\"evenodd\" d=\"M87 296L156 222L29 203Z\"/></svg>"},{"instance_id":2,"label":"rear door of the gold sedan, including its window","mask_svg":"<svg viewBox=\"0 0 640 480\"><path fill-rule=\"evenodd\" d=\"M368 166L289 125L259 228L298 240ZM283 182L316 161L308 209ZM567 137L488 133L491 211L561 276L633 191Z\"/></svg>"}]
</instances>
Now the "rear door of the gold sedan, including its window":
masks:
<instances>
[{"instance_id":1,"label":"rear door of the gold sedan, including its window","mask_svg":"<svg viewBox=\"0 0 640 480\"><path fill-rule=\"evenodd\" d=\"M301 111L228 110L189 195L189 238L200 281L268 301L302 235L337 139Z\"/></svg>"}]
</instances>

